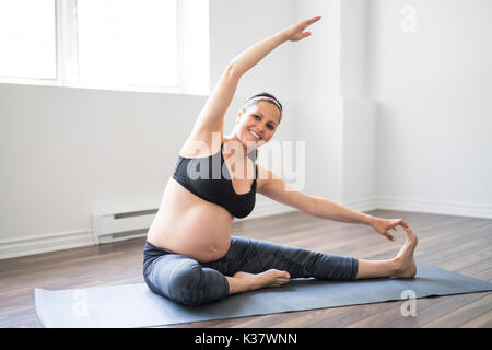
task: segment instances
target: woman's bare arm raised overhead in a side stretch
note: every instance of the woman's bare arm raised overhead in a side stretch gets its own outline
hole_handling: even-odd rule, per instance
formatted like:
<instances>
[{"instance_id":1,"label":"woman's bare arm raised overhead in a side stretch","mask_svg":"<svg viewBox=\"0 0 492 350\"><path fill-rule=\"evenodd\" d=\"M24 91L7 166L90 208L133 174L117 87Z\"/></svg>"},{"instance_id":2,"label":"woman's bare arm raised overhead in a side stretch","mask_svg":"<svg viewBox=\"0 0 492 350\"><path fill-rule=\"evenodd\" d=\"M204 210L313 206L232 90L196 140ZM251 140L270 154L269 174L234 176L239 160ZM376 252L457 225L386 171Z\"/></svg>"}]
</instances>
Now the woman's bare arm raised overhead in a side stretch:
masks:
<instances>
[{"instance_id":1,"label":"woman's bare arm raised overhead in a side stretch","mask_svg":"<svg viewBox=\"0 0 492 350\"><path fill-rule=\"evenodd\" d=\"M235 57L222 73L212 94L207 100L206 105L198 115L194 126L195 136L211 137L211 132L222 132L224 115L231 105L236 92L237 83L243 74L255 67L261 59L276 49L280 44L291 40L298 42L311 35L304 30L318 21L320 16L298 22L284 28L273 36L270 36L247 48Z\"/></svg>"}]
</instances>

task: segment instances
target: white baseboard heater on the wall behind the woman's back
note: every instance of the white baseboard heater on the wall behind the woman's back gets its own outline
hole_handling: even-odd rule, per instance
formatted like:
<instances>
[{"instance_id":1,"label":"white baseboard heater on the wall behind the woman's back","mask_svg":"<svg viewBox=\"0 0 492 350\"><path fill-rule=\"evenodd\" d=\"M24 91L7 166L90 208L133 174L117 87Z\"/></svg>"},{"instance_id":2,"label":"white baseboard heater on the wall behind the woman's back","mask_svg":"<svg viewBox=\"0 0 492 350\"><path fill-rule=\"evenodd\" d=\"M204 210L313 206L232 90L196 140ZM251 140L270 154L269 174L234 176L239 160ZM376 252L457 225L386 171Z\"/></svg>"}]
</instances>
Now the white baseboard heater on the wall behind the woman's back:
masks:
<instances>
[{"instance_id":1,"label":"white baseboard heater on the wall behind the woman's back","mask_svg":"<svg viewBox=\"0 0 492 350\"><path fill-rule=\"evenodd\" d=\"M157 209L92 215L96 244L119 242L147 235Z\"/></svg>"}]
</instances>

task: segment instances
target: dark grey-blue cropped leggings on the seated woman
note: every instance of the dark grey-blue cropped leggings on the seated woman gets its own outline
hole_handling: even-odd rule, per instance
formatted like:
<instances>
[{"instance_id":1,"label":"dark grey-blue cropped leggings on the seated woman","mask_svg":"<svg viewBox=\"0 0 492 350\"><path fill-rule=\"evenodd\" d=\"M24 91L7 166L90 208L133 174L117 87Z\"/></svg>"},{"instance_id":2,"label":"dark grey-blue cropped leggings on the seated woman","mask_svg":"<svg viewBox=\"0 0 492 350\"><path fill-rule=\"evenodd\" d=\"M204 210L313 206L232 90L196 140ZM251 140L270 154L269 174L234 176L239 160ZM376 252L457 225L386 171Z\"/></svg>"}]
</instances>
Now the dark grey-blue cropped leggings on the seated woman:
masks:
<instances>
[{"instance_id":1,"label":"dark grey-blue cropped leggings on the seated woman","mask_svg":"<svg viewBox=\"0 0 492 350\"><path fill-rule=\"evenodd\" d=\"M259 273L269 269L288 271L291 278L314 277L354 280L359 260L251 238L231 238L231 247L221 259L198 262L184 255L145 242L143 278L149 288L185 305L201 305L229 295L225 276L237 271Z\"/></svg>"}]
</instances>

